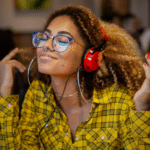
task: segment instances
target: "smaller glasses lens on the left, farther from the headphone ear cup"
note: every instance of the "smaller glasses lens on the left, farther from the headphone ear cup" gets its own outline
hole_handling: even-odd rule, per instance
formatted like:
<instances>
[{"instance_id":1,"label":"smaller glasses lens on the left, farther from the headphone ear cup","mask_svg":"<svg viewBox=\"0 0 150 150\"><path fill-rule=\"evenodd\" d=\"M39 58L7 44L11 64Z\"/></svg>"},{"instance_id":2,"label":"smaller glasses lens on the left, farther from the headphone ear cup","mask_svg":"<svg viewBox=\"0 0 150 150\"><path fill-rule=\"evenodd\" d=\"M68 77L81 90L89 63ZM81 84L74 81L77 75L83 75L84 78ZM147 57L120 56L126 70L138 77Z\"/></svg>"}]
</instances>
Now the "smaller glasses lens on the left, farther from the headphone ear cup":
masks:
<instances>
[{"instance_id":1,"label":"smaller glasses lens on the left, farther from the headphone ear cup","mask_svg":"<svg viewBox=\"0 0 150 150\"><path fill-rule=\"evenodd\" d=\"M48 40L47 35L43 32L37 32L35 33L33 37L33 45L35 47L42 47L43 44Z\"/></svg>"}]
</instances>

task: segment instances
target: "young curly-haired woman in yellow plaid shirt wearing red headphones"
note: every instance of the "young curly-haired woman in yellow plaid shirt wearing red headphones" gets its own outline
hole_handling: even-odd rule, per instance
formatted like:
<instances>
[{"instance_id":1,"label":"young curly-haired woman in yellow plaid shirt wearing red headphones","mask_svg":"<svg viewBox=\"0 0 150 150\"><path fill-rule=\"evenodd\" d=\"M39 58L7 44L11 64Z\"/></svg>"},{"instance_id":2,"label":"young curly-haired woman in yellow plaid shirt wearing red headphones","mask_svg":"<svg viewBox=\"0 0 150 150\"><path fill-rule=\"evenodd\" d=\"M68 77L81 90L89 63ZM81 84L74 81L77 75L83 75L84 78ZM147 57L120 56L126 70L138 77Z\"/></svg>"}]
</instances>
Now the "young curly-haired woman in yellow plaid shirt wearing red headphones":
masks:
<instances>
[{"instance_id":1,"label":"young curly-haired woman in yellow plaid shirt wearing red headphones","mask_svg":"<svg viewBox=\"0 0 150 150\"><path fill-rule=\"evenodd\" d=\"M124 30L66 6L33 45L38 75L19 121L12 69L25 67L17 49L0 62L2 149L150 149L150 55L143 65Z\"/></svg>"}]
</instances>

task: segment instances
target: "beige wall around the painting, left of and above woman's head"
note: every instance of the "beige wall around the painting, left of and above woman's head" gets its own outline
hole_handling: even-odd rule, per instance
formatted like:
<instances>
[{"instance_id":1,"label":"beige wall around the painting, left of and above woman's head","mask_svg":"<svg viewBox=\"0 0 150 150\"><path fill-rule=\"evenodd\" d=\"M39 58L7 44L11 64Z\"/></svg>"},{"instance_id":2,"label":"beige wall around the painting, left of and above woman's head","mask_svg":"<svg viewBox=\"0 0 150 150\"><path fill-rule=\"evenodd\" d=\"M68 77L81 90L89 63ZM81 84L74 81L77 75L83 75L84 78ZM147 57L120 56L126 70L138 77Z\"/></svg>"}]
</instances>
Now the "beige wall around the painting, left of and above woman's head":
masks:
<instances>
[{"instance_id":1,"label":"beige wall around the painting, left of and above woman's head","mask_svg":"<svg viewBox=\"0 0 150 150\"><path fill-rule=\"evenodd\" d=\"M41 30L51 12L68 4L83 5L89 7L97 15L99 15L100 12L99 0L52 0L50 10L36 10L28 12L15 11L14 0L1 0L0 28L9 28L12 29L14 32L32 32Z\"/></svg>"}]
</instances>

